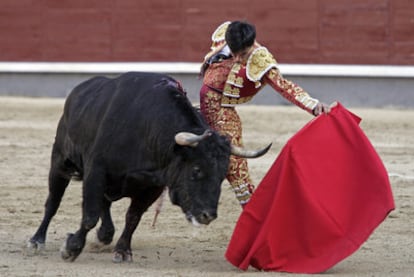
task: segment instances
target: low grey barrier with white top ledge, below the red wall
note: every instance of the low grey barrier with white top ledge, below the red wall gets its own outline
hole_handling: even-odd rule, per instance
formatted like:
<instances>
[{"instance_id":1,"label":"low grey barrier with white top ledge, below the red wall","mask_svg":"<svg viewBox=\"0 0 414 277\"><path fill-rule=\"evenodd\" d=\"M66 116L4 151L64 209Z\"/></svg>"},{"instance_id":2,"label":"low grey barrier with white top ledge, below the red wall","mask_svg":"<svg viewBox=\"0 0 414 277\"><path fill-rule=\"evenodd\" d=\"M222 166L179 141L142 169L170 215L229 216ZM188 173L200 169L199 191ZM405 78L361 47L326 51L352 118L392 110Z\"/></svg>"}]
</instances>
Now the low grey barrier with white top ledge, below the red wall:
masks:
<instances>
[{"instance_id":1,"label":"low grey barrier with white top ledge, below the red wall","mask_svg":"<svg viewBox=\"0 0 414 277\"><path fill-rule=\"evenodd\" d=\"M170 62L0 62L0 95L66 97L80 82L128 71L160 72L179 80L190 100L198 102L199 63ZM280 64L285 78L324 102L353 107L414 107L414 66ZM265 87L251 104L284 105Z\"/></svg>"}]
</instances>

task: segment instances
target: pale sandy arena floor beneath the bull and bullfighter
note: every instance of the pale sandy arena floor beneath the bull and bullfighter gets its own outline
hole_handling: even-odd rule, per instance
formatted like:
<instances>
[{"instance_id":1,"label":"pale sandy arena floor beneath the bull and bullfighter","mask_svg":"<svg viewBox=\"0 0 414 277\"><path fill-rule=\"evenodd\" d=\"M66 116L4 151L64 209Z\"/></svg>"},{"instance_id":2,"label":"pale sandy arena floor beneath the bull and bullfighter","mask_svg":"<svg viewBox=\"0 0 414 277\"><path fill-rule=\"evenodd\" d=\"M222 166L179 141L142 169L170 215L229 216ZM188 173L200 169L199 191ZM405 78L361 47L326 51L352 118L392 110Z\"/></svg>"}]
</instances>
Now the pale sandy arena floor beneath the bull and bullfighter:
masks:
<instances>
[{"instance_id":1,"label":"pale sandy arena floor beneath the bull and bullfighter","mask_svg":"<svg viewBox=\"0 0 414 277\"><path fill-rule=\"evenodd\" d=\"M132 247L134 261L113 264L111 248L94 248L94 231L73 263L60 258L66 233L80 221L81 184L72 182L52 221L41 255L27 255L25 245L43 215L50 151L63 99L0 97L0 276L300 276L242 272L224 259L240 214L227 182L219 217L207 227L188 224L180 209L165 202L155 228L151 208L143 217ZM321 276L413 276L414 274L414 110L352 109L389 171L396 209L362 247ZM294 106L243 106L245 144L273 142L264 157L250 161L256 183L285 142L311 116ZM128 200L114 203L117 226L123 226ZM319 276L319 275L316 275Z\"/></svg>"}]
</instances>

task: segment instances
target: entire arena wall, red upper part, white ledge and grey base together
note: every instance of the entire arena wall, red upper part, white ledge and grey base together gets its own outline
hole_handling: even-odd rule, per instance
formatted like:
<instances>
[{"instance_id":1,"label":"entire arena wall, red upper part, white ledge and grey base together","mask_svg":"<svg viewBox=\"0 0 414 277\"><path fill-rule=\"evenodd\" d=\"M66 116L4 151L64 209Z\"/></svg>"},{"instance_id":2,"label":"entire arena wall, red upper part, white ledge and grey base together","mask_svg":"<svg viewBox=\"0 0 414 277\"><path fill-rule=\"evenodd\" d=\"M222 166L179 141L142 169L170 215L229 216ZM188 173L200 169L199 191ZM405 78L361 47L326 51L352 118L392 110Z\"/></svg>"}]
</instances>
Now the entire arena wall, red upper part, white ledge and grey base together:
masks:
<instances>
[{"instance_id":1,"label":"entire arena wall, red upper part, white ledge and grey base together","mask_svg":"<svg viewBox=\"0 0 414 277\"><path fill-rule=\"evenodd\" d=\"M0 95L65 97L91 76L145 70L173 75L197 101L211 33L246 19L313 96L412 107L413 10L410 0L2 0ZM284 101L262 92L253 103Z\"/></svg>"}]
</instances>

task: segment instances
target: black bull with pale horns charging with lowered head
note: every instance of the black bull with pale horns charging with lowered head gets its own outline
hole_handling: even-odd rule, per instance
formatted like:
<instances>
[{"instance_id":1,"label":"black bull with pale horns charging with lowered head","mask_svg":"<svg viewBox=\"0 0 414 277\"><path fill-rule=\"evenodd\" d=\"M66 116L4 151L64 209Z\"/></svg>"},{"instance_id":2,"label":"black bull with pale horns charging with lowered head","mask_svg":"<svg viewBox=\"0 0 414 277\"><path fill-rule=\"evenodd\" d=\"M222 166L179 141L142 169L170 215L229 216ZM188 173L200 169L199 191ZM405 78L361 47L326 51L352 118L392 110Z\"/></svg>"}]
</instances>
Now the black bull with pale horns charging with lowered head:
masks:
<instances>
[{"instance_id":1,"label":"black bull with pale horns charging with lowered head","mask_svg":"<svg viewBox=\"0 0 414 277\"><path fill-rule=\"evenodd\" d=\"M111 202L123 197L131 203L115 261L132 259L132 234L165 187L189 220L208 224L217 217L231 149L224 136L209 130L169 76L130 72L85 81L65 102L52 149L45 214L29 247L44 246L73 177L83 180L82 220L62 247L65 260L81 253L99 218L98 240L112 241Z\"/></svg>"}]
</instances>

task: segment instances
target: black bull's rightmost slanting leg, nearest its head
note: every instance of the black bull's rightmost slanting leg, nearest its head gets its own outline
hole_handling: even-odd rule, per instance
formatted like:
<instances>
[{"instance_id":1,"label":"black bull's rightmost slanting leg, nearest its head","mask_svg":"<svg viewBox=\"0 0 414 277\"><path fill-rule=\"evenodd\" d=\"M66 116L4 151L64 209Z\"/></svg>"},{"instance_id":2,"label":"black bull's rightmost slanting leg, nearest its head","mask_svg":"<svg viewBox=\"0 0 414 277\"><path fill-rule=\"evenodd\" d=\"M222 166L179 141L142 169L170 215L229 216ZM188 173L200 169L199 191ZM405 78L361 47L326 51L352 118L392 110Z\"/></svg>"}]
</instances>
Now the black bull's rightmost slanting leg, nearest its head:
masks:
<instances>
[{"instance_id":1,"label":"black bull's rightmost slanting leg, nearest its head","mask_svg":"<svg viewBox=\"0 0 414 277\"><path fill-rule=\"evenodd\" d=\"M131 262L131 239L132 234L137 228L143 213L148 207L161 195L164 187L152 187L140 191L134 197L131 197L131 204L125 216L125 227L122 231L114 250L113 262Z\"/></svg>"}]
</instances>

